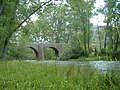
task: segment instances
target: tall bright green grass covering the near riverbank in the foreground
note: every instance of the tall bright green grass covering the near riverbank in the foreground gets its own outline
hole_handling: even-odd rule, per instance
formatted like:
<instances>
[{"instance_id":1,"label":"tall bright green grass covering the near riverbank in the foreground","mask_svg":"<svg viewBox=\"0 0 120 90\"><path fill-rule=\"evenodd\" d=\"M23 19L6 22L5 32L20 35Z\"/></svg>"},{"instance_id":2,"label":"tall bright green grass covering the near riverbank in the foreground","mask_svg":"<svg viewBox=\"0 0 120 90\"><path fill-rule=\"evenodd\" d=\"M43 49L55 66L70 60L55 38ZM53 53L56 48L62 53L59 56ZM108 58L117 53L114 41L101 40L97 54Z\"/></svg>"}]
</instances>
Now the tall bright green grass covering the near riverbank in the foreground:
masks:
<instances>
[{"instance_id":1,"label":"tall bright green grass covering the near riverbank in the foreground","mask_svg":"<svg viewBox=\"0 0 120 90\"><path fill-rule=\"evenodd\" d=\"M89 66L1 61L0 90L120 90L120 73L100 74Z\"/></svg>"}]
</instances>

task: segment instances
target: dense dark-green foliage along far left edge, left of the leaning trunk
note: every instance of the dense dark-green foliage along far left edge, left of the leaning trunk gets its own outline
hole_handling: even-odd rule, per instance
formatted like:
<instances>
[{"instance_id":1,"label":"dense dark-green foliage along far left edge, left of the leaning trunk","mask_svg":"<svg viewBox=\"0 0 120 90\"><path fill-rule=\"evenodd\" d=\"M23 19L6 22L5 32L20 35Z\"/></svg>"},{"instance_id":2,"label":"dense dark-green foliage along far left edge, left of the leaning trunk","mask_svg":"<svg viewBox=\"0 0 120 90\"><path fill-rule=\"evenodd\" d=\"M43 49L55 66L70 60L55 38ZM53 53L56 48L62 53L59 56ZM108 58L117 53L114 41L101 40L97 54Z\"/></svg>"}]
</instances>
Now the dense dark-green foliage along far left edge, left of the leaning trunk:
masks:
<instances>
[{"instance_id":1,"label":"dense dark-green foliage along far left edge, left of the leaning trunk","mask_svg":"<svg viewBox=\"0 0 120 90\"><path fill-rule=\"evenodd\" d=\"M18 0L0 1L0 57L4 57L9 38L13 33L11 29L18 23L15 15L18 3Z\"/></svg>"}]
</instances>

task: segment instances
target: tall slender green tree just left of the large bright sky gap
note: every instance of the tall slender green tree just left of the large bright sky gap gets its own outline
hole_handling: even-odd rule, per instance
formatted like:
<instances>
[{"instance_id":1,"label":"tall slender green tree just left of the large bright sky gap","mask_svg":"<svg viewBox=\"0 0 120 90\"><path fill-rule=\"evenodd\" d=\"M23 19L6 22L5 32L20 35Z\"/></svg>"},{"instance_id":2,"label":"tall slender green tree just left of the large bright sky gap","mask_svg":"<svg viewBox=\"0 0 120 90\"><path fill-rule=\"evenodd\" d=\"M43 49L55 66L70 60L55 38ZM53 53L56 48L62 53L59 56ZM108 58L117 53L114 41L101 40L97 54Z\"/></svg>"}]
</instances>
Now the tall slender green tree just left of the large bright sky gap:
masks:
<instances>
[{"instance_id":1,"label":"tall slender green tree just left of the large bright sky gap","mask_svg":"<svg viewBox=\"0 0 120 90\"><path fill-rule=\"evenodd\" d=\"M91 23L90 17L92 16L92 8L95 0L67 0L70 4L71 8L76 11L76 15L74 18L79 20L79 23L74 27L77 32L83 33L83 37L79 36L79 40L82 41L84 45L84 50L89 52L90 49L90 40L91 40ZM76 20L75 20L76 21ZM81 40L81 38L83 38Z\"/></svg>"}]
</instances>

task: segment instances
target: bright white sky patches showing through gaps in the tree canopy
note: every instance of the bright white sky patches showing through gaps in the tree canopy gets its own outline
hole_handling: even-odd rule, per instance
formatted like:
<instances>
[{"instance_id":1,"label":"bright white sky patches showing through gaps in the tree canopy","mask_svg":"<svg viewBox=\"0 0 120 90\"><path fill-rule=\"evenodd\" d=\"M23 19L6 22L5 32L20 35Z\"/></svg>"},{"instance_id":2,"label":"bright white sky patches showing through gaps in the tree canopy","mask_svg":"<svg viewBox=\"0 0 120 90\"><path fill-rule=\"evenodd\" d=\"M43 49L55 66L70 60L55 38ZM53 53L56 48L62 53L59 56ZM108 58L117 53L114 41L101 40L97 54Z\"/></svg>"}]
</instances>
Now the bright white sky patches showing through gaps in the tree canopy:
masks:
<instances>
[{"instance_id":1,"label":"bright white sky patches showing through gaps in the tree canopy","mask_svg":"<svg viewBox=\"0 0 120 90\"><path fill-rule=\"evenodd\" d=\"M58 1L57 1L58 2ZM99 7L103 7L105 5L104 3L104 0L96 0L96 3L95 3L95 7L96 8L99 8ZM99 14L97 16L93 16L91 19L90 19L90 22L93 24L93 25L99 25L99 26L104 26L106 25L105 23L103 23L104 21L104 15L102 14ZM36 21L38 18L35 16L35 15L32 15L32 21Z\"/></svg>"}]
</instances>

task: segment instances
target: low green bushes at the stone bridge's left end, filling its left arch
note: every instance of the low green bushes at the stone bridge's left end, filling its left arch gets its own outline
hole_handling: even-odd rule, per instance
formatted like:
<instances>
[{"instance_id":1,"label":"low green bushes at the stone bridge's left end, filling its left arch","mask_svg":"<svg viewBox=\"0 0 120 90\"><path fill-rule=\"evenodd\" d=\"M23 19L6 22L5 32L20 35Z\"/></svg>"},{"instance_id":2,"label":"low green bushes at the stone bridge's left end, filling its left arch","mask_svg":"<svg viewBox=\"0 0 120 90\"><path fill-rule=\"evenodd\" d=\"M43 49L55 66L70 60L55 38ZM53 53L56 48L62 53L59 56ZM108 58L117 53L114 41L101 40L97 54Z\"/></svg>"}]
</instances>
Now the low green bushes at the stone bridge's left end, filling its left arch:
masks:
<instances>
[{"instance_id":1,"label":"low green bushes at the stone bridge's left end, filling its left arch","mask_svg":"<svg viewBox=\"0 0 120 90\"><path fill-rule=\"evenodd\" d=\"M12 43L9 45L6 58L9 60L31 60L36 59L36 55L35 52L32 49L27 48L26 45Z\"/></svg>"}]
</instances>

